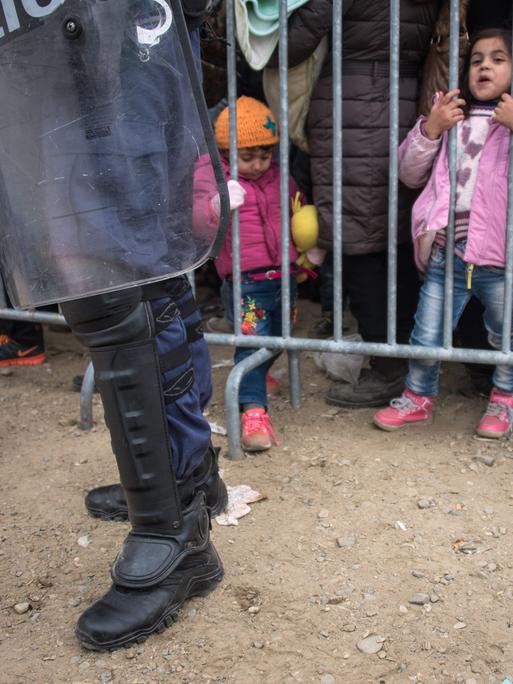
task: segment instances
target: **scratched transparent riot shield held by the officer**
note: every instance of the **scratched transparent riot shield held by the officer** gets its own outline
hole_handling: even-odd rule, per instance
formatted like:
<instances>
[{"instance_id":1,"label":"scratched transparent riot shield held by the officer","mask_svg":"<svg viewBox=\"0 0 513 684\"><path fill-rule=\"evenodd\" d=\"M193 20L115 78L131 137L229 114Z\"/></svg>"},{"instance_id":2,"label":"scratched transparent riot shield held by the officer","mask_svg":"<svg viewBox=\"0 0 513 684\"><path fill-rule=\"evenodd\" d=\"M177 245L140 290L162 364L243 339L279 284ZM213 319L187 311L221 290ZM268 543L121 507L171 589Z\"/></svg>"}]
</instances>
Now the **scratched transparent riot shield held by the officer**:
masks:
<instances>
[{"instance_id":1,"label":"scratched transparent riot shield held by the officer","mask_svg":"<svg viewBox=\"0 0 513 684\"><path fill-rule=\"evenodd\" d=\"M205 261L228 204L179 0L7 5L0 259L13 304L162 280Z\"/></svg>"}]
</instances>

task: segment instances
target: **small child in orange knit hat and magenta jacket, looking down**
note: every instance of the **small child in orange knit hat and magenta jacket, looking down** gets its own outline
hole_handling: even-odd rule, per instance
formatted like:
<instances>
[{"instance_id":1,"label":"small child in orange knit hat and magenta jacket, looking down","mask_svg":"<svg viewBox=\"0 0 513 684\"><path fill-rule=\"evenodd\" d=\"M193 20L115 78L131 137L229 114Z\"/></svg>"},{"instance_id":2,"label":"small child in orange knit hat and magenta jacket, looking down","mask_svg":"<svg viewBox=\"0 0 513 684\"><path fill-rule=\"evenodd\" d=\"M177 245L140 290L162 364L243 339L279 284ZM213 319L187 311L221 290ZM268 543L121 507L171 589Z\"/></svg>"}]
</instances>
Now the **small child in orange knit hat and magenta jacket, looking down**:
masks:
<instances>
[{"instance_id":1,"label":"small child in orange knit hat and magenta jacket, looking down","mask_svg":"<svg viewBox=\"0 0 513 684\"><path fill-rule=\"evenodd\" d=\"M230 178L228 108L215 124L217 144ZM244 335L281 335L281 232L280 232L280 169L272 161L273 147L278 143L278 126L270 109L251 97L237 100L237 160L239 181L228 181L230 208L239 209L241 307L239 315ZM297 193L294 180L289 179L289 195ZM285 264L290 274L290 306L295 319L296 281L294 262L297 251L291 241L289 259ZM225 301L233 302L232 233L216 259L216 268L223 279ZM228 312L228 316L233 315ZM235 349L235 362L254 350ZM273 426L267 413L266 373L272 361L262 364L244 376L239 392L242 421L242 447L246 451L262 451L276 443Z\"/></svg>"}]
</instances>

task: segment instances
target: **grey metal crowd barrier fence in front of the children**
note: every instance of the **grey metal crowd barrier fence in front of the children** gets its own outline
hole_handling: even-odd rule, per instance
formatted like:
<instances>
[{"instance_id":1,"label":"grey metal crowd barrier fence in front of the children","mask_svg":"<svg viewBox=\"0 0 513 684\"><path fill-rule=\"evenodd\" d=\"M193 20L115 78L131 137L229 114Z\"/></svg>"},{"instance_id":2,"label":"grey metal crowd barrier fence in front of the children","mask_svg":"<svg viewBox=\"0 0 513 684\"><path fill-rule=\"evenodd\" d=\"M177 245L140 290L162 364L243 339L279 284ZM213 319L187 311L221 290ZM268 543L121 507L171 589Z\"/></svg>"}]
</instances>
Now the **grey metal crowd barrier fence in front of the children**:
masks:
<instances>
[{"instance_id":1,"label":"grey metal crowd barrier fence in front of the children","mask_svg":"<svg viewBox=\"0 0 513 684\"><path fill-rule=\"evenodd\" d=\"M281 206L282 206L282 262L288 263L290 230L289 230L289 145L288 145L288 86L287 86L287 0L280 2L279 21L279 74L280 74L280 148L281 168ZM291 336L290 325L290 286L288 273L282 272L282 336L256 337L243 335L240 317L235 316L234 334L207 333L209 344L248 347L257 351L237 364L230 372L225 390L225 411L228 431L228 455L232 459L241 458L239 424L239 386L242 378L253 368L267 361L282 351L286 351L289 361L290 397L293 407L300 406L300 352L329 351L345 354L364 354L369 356L400 357L406 359L421 358L439 361L465 361L488 364L513 365L511 352L511 323L513 303L513 147L510 143L509 181L508 181L508 221L506 237L506 269L505 296L501 349L497 351L482 349L456 349L452 346L453 333L453 261L446 260L444 284L444 320L443 346L422 347L398 344L396 337L397 313L397 216L398 216L398 142L399 142L399 37L400 37L400 0L390 1L390 162L389 162L389 211L388 211L388 291L387 291L387 341L383 343L354 342L342 338L343 327L343 292L342 292L342 136L337 133L342 129L342 2L333 3L333 325L332 340L318 340ZM237 129L235 102L236 86L236 39L234 0L227 0L227 67L228 67L228 103L230 107L230 173L236 179L237 163ZM449 56L449 89L458 83L458 49L459 49L459 0L450 0L450 56ZM449 226L447 229L446 248L449 253L454 250L454 214L456 204L456 130L449 133L449 167L451 180ZM238 211L232 214L233 231L233 305L238 311L241 299L240 268L240 226ZM1 306L1 302L0 302ZM38 322L64 323L57 314L42 312L20 312L0 309L0 318L33 320ZM87 428L92 425L92 390L93 372L89 367L81 396L81 424Z\"/></svg>"}]
</instances>

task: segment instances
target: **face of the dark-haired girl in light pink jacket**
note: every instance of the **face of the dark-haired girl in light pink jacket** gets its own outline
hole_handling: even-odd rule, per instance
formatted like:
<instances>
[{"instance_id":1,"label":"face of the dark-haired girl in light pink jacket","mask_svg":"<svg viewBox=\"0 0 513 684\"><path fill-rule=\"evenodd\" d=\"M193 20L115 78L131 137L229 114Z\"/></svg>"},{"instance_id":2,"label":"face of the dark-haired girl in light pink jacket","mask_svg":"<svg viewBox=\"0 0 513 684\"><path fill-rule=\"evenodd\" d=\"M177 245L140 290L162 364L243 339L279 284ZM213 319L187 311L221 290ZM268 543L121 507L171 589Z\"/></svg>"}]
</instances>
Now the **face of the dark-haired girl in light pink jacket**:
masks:
<instances>
[{"instance_id":1,"label":"face of the dark-haired girl in light pink jacket","mask_svg":"<svg viewBox=\"0 0 513 684\"><path fill-rule=\"evenodd\" d=\"M469 88L476 100L498 100L511 87L511 56L501 38L482 38L472 49Z\"/></svg>"}]
</instances>

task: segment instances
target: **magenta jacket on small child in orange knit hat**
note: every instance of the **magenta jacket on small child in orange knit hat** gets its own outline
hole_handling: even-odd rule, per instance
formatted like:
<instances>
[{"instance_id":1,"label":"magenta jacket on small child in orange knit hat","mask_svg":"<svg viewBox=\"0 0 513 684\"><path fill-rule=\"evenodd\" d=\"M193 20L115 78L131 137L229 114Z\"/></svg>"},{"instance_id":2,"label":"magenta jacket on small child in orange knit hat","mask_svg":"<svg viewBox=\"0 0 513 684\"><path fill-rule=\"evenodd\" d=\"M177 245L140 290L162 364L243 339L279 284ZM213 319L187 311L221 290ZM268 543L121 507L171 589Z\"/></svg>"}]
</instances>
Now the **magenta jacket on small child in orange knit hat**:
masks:
<instances>
[{"instance_id":1,"label":"magenta jacket on small child in orange knit hat","mask_svg":"<svg viewBox=\"0 0 513 684\"><path fill-rule=\"evenodd\" d=\"M230 178L230 165L222 158L226 178ZM280 167L272 162L269 170L256 181L239 177L239 183L246 190L244 204L239 209L240 261L241 271L281 265L280 232ZM294 197L298 188L293 178L289 179L289 197ZM304 201L304 200L303 200ZM289 206L289 213L291 208ZM290 242L289 263L297 258L294 244ZM215 261L217 272L226 278L232 272L232 230L229 226L224 244Z\"/></svg>"}]
</instances>

